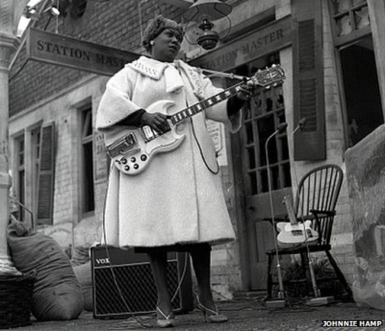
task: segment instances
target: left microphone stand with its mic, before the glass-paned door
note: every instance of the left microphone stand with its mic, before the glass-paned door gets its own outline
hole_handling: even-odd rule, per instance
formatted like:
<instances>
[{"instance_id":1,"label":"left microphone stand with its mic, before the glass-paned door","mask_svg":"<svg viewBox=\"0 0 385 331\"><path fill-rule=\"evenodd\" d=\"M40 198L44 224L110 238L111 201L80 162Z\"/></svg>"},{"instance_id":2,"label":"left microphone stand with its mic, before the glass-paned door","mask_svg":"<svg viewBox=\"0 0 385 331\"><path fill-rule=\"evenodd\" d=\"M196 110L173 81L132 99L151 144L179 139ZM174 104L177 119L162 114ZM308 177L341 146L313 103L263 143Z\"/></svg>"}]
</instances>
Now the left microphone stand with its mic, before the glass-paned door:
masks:
<instances>
[{"instance_id":1,"label":"left microphone stand with its mic, before the glass-paned door","mask_svg":"<svg viewBox=\"0 0 385 331\"><path fill-rule=\"evenodd\" d=\"M284 286L283 286L283 280L282 280L282 272L281 272L281 264L279 263L279 253L278 253L278 243L277 243L277 235L275 233L275 217L274 217L274 205L272 200L272 179L270 174L270 162L269 162L269 151L268 151L268 145L270 140L272 140L273 137L275 137L278 133L284 132L286 130L287 123L281 123L277 126L277 130L275 130L272 135L267 137L267 140L265 142L265 154L266 154L266 165L267 165L267 182L268 182L268 188L269 188L269 201L270 201L270 213L272 214L272 231L273 231L273 238L274 238L274 246L275 246L275 253L277 258L277 275L278 275L278 284L279 284L279 291L278 291L278 299L277 300L268 300L266 302L267 308L284 308L285 306L285 300L284 300Z\"/></svg>"}]
</instances>

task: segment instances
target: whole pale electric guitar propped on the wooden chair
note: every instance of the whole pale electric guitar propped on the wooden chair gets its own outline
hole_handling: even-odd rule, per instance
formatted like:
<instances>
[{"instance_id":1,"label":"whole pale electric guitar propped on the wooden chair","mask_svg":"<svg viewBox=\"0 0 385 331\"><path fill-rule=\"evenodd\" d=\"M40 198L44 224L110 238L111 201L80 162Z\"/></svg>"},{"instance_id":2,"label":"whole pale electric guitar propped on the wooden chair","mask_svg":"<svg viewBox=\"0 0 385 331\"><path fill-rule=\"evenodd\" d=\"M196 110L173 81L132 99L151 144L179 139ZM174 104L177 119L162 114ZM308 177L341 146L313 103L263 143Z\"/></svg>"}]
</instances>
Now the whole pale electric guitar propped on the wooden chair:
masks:
<instances>
[{"instance_id":1,"label":"whole pale electric guitar propped on the wooden chair","mask_svg":"<svg viewBox=\"0 0 385 331\"><path fill-rule=\"evenodd\" d=\"M318 232L312 228L312 221L304 221L303 224L298 224L297 217L294 214L292 197L284 196L284 205L286 206L288 222L277 223L279 231L277 241L281 245L293 245L297 243L313 243L318 239Z\"/></svg>"}]
</instances>

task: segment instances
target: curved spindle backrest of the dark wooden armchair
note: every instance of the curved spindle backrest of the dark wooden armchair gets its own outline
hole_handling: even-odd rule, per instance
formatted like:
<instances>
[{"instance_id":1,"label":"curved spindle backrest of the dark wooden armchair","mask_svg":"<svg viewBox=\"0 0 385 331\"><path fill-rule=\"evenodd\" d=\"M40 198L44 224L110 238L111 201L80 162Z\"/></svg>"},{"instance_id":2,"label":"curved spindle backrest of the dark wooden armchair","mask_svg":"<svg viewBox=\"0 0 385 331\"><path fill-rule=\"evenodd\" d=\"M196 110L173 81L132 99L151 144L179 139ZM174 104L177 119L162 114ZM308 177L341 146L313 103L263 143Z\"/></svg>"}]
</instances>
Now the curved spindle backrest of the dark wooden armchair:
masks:
<instances>
[{"instance_id":1,"label":"curved spindle backrest of the dark wooden armchair","mask_svg":"<svg viewBox=\"0 0 385 331\"><path fill-rule=\"evenodd\" d=\"M320 218L316 227L320 244L330 243L343 178L344 173L339 166L328 164L307 172L298 184L294 206L297 217L310 216L312 210L330 213L329 216Z\"/></svg>"}]
</instances>

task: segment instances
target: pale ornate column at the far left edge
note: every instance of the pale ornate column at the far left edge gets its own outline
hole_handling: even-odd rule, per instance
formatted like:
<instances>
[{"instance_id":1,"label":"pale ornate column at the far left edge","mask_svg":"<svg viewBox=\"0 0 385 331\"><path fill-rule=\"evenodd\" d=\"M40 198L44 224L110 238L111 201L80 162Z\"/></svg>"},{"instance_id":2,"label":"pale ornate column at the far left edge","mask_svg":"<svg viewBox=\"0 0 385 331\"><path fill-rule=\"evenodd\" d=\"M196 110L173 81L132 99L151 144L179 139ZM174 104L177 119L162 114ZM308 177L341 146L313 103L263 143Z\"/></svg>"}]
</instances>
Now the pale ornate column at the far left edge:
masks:
<instances>
[{"instance_id":1,"label":"pale ornate column at the far left edge","mask_svg":"<svg viewBox=\"0 0 385 331\"><path fill-rule=\"evenodd\" d=\"M6 229L9 223L9 63L16 51L17 23L28 0L0 1L0 275L20 275L9 257ZM23 5L24 6L21 6Z\"/></svg>"}]
</instances>

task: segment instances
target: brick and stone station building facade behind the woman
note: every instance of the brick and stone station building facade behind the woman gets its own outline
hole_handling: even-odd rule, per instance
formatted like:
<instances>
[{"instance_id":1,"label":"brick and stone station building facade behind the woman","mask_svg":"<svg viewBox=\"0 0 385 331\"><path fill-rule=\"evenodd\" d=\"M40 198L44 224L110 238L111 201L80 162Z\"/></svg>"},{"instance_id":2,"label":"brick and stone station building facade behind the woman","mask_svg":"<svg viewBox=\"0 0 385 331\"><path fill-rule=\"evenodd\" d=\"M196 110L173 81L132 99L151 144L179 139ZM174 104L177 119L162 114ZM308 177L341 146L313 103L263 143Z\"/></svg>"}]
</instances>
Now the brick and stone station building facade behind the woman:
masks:
<instances>
[{"instance_id":1,"label":"brick and stone station building facade behind the woman","mask_svg":"<svg viewBox=\"0 0 385 331\"><path fill-rule=\"evenodd\" d=\"M61 1L58 18L36 27L122 51L141 53L140 36L154 14L186 23L181 55L210 70L254 75L279 63L286 78L259 86L245 107L240 132L209 123L237 241L212 252L212 285L227 298L265 290L265 250L272 247L269 185L274 210L299 179L322 164L345 169L344 153L384 124L384 0L229 0L217 22L219 45L204 51L183 12L189 1ZM190 40L188 40L190 38ZM101 241L108 162L95 115L108 75L34 61L21 50L10 78L13 189L34 214L34 226L73 251ZM76 56L76 51L73 51ZM79 55L80 56L80 55ZM118 69L118 68L117 68ZM217 85L236 80L212 75ZM304 130L293 134L307 117ZM267 162L264 143L275 127ZM21 217L31 221L28 213ZM354 255L347 181L335 218L332 253L353 281Z\"/></svg>"}]
</instances>

